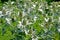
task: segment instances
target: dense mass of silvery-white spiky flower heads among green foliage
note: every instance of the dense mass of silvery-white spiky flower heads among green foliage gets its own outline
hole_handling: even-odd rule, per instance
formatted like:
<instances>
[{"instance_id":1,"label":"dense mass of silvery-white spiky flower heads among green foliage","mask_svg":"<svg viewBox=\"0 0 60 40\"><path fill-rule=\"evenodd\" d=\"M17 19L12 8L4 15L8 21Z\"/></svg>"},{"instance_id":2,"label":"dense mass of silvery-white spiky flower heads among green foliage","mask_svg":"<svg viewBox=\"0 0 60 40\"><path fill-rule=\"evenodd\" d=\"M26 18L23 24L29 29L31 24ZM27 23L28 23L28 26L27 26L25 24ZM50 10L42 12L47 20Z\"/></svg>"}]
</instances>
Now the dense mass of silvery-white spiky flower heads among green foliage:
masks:
<instances>
[{"instance_id":1,"label":"dense mass of silvery-white spiky flower heads among green foliage","mask_svg":"<svg viewBox=\"0 0 60 40\"><path fill-rule=\"evenodd\" d=\"M6 29L10 31L15 36L12 37L13 40L59 40L58 3L48 5L46 1L31 0L18 4L14 1L5 3L0 11L0 25L3 25L4 29L0 27L3 31ZM5 32L2 35L6 34Z\"/></svg>"}]
</instances>

